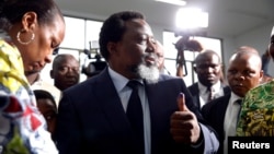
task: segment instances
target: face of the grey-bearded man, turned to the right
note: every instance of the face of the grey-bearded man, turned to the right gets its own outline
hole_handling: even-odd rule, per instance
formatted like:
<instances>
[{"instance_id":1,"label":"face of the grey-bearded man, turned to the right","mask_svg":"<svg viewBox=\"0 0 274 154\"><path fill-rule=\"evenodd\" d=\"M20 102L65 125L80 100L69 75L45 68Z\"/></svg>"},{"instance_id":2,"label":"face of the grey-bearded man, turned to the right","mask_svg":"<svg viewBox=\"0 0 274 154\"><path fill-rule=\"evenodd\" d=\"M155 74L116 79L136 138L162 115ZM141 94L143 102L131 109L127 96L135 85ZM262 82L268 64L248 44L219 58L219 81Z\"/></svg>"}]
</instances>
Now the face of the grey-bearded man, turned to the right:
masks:
<instances>
[{"instance_id":1,"label":"face of the grey-bearded man, turned to the right","mask_svg":"<svg viewBox=\"0 0 274 154\"><path fill-rule=\"evenodd\" d=\"M122 40L115 44L110 59L115 71L128 79L158 80L156 40L144 20L126 22L126 32Z\"/></svg>"}]
</instances>

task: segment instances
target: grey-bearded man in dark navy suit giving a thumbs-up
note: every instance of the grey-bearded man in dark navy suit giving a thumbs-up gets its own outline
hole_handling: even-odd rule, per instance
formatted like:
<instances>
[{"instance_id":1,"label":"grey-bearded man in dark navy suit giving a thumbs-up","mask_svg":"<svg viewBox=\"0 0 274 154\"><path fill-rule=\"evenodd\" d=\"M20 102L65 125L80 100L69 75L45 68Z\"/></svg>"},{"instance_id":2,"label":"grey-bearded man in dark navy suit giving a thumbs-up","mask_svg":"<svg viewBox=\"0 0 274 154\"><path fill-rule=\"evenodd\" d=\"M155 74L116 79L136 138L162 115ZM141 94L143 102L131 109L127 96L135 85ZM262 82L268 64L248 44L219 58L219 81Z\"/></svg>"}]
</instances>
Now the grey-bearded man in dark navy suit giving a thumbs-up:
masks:
<instances>
[{"instance_id":1,"label":"grey-bearded man in dark navy suit giving a thumbs-up","mask_svg":"<svg viewBox=\"0 0 274 154\"><path fill-rule=\"evenodd\" d=\"M202 123L183 80L160 74L156 40L142 14L125 11L111 15L101 28L99 43L107 68L64 91L57 118L60 154L217 151L218 140ZM136 92L127 82L133 80L138 83L139 100L135 103L141 105L141 135L135 134L136 128L127 117L129 96Z\"/></svg>"}]
</instances>

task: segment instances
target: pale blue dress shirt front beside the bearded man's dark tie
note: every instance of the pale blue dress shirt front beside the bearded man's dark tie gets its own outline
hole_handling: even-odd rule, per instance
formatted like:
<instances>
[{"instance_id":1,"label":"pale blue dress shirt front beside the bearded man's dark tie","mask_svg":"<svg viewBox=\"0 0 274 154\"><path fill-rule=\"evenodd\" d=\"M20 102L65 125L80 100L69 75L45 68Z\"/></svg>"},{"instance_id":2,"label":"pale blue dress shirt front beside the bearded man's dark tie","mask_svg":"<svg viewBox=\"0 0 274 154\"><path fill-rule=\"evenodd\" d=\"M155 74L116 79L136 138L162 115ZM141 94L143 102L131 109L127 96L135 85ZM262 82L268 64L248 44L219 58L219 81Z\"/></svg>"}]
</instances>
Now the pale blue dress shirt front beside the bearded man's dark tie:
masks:
<instances>
[{"instance_id":1,"label":"pale blue dress shirt front beside the bearded man's dark tie","mask_svg":"<svg viewBox=\"0 0 274 154\"><path fill-rule=\"evenodd\" d=\"M121 98L122 105L124 110L126 111L127 104L132 94L132 88L126 86L127 82L129 81L125 76L118 74L114 70L112 70L109 67L109 73L111 75L111 79L114 83L114 86L116 88L116 92L118 93L118 96ZM142 85L144 82L139 81ZM150 154L150 146L151 146L151 129L150 129L150 111L149 111L149 104L148 98L145 93L145 86L139 86L139 97L142 106L142 112L144 112L144 139L145 139L145 154Z\"/></svg>"}]
</instances>

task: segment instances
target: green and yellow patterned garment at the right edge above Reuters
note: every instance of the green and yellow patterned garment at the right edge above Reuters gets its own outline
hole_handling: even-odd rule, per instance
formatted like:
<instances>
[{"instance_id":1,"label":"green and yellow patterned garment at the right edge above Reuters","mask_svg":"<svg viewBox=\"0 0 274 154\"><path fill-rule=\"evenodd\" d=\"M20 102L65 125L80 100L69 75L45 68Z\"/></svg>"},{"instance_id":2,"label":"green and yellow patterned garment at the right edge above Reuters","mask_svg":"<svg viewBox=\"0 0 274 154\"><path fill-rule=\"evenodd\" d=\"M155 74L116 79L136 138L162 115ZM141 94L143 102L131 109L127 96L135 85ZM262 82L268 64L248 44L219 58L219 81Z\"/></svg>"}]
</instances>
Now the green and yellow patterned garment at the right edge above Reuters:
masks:
<instances>
[{"instance_id":1,"label":"green and yellow patterned garment at the right edge above Reuters","mask_svg":"<svg viewBox=\"0 0 274 154\"><path fill-rule=\"evenodd\" d=\"M238 137L274 137L274 80L250 90L242 102Z\"/></svg>"}]
</instances>

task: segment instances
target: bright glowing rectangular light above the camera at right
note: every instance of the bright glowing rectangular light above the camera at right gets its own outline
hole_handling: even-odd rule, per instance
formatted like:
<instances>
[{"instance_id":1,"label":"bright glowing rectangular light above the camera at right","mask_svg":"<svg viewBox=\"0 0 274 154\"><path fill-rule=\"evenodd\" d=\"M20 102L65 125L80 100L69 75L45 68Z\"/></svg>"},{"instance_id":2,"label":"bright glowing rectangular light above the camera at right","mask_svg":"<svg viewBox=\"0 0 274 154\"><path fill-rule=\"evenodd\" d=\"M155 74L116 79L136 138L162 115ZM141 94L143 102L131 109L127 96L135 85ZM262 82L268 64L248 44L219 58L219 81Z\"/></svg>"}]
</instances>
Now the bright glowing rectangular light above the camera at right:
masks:
<instances>
[{"instance_id":1,"label":"bright glowing rectangular light above the camera at right","mask_svg":"<svg viewBox=\"0 0 274 154\"><path fill-rule=\"evenodd\" d=\"M182 29L208 26L208 13L196 8L182 8L176 13L176 26Z\"/></svg>"}]
</instances>

